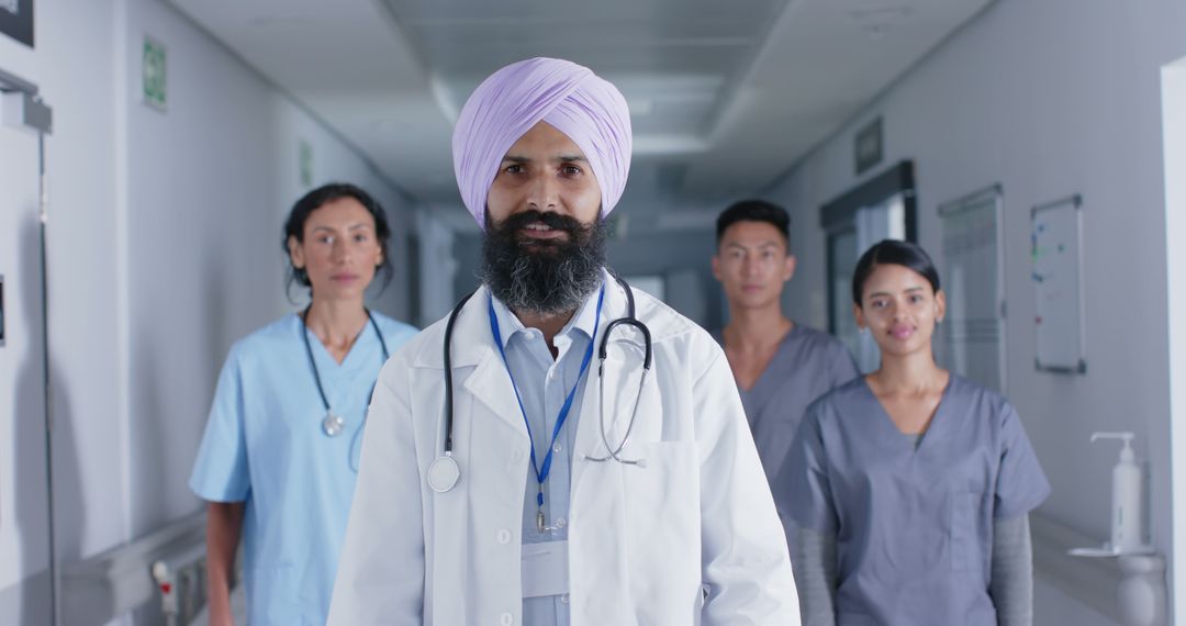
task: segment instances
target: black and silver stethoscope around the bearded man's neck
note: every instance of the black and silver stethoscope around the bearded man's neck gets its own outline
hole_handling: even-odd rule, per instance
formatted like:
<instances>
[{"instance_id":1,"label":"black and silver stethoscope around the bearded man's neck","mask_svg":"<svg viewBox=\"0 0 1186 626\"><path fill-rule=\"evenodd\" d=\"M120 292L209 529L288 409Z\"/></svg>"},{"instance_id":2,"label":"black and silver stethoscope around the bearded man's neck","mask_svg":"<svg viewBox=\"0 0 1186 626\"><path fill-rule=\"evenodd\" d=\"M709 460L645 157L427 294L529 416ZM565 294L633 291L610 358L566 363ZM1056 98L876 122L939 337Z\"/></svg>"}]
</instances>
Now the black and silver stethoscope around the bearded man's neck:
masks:
<instances>
[{"instance_id":1,"label":"black and silver stethoscope around the bearded man's neck","mask_svg":"<svg viewBox=\"0 0 1186 626\"><path fill-rule=\"evenodd\" d=\"M638 321L635 314L635 294L630 290L626 281L614 276L618 285L626 292L626 317L610 321L601 334L601 344L598 347L598 408L599 424L601 430L601 443L607 454L604 456L592 456L586 454L585 460L593 462L617 461L623 465L645 467L645 459L626 459L621 456L621 449L630 441L630 433L635 429L635 419L638 416L638 404L643 400L643 388L646 385L646 375L651 371L651 331L645 324ZM461 468L453 458L453 359L449 354L449 346L453 341L453 324L465 307L465 304L473 298L473 292L461 299L449 313L448 322L445 325L445 437L441 449L433 462L428 466L428 486L438 493L452 490L461 478ZM632 326L643 333L643 373L638 379L638 392L635 396L635 408L630 413L630 423L626 426L626 434L617 446L610 445L610 437L605 430L605 359L608 354L610 337L614 328L619 326Z\"/></svg>"}]
</instances>

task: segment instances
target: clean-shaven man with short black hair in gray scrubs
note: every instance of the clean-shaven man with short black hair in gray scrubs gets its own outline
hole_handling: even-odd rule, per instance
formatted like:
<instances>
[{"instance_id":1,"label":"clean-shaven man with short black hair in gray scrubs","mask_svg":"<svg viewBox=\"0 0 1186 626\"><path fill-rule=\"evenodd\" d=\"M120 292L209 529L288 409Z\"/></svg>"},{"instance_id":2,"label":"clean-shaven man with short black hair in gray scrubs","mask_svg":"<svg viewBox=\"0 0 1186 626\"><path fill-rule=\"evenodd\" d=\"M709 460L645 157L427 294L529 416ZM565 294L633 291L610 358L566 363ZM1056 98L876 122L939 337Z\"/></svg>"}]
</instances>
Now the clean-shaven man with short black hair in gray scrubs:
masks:
<instances>
[{"instance_id":1,"label":"clean-shaven man with short black hair in gray scrubs","mask_svg":"<svg viewBox=\"0 0 1186 626\"><path fill-rule=\"evenodd\" d=\"M788 537L788 490L774 478L803 413L860 373L837 339L783 315L783 286L795 275L789 243L790 217L776 204L744 200L716 218L713 274L725 287L729 324L714 334L733 369Z\"/></svg>"}]
</instances>

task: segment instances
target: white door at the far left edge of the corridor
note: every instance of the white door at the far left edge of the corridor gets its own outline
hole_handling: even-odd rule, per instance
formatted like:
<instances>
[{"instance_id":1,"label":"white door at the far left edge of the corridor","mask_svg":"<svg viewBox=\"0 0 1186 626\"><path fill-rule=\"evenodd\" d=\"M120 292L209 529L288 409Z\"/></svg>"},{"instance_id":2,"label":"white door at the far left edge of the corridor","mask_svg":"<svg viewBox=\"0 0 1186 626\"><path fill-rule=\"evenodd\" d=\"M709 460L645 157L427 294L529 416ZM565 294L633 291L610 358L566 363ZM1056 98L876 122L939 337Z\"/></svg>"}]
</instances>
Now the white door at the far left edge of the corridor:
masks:
<instances>
[{"instance_id":1,"label":"white door at the far left edge of the corridor","mask_svg":"<svg viewBox=\"0 0 1186 626\"><path fill-rule=\"evenodd\" d=\"M23 96L0 94L0 624L40 625L53 624L40 141L12 100Z\"/></svg>"}]
</instances>

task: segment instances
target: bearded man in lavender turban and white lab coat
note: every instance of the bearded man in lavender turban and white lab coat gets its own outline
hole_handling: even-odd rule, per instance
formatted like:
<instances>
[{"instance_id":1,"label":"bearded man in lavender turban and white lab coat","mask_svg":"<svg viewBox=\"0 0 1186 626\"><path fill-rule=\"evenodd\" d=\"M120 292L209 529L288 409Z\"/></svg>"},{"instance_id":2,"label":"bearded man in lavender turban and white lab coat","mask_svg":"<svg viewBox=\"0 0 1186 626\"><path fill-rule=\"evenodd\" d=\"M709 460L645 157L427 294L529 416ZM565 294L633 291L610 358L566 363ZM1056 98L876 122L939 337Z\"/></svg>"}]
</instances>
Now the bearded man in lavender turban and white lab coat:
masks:
<instances>
[{"instance_id":1,"label":"bearded man in lavender turban and white lab coat","mask_svg":"<svg viewBox=\"0 0 1186 626\"><path fill-rule=\"evenodd\" d=\"M606 269L630 154L621 94L574 63L466 102L483 286L380 375L331 625L798 624L725 354Z\"/></svg>"}]
</instances>

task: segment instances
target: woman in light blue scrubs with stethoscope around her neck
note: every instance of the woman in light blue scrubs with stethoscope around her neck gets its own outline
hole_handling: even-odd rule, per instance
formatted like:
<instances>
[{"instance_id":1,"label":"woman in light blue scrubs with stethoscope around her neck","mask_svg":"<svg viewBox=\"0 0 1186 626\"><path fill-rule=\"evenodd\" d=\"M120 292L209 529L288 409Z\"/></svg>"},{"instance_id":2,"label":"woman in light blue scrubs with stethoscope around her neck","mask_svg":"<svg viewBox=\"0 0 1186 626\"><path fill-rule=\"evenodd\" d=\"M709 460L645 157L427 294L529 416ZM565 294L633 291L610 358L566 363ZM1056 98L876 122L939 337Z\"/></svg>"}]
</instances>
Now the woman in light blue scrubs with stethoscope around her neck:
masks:
<instances>
[{"instance_id":1,"label":"woman in light blue scrubs with stethoscope around her neck","mask_svg":"<svg viewBox=\"0 0 1186 626\"><path fill-rule=\"evenodd\" d=\"M240 536L248 622L325 624L378 370L415 328L366 309L390 279L383 209L345 184L311 191L285 224L289 286L311 304L237 341L215 392L190 488L209 502L210 624L232 621Z\"/></svg>"}]
</instances>

